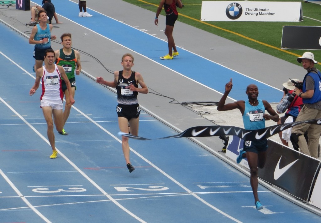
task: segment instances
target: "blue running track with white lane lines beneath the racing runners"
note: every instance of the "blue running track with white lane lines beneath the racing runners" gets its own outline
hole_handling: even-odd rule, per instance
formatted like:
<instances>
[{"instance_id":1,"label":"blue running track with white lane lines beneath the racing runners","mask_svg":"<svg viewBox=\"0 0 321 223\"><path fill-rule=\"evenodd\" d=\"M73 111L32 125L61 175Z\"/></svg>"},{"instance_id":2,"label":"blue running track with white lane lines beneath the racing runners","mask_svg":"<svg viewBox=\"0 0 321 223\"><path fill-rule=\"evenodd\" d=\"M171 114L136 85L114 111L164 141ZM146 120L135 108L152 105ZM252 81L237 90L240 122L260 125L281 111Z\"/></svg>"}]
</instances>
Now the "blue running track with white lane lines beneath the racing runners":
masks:
<instances>
[{"instance_id":1,"label":"blue running track with white lane lines beneath the racing runners","mask_svg":"<svg viewBox=\"0 0 321 223\"><path fill-rule=\"evenodd\" d=\"M61 14L60 2L74 4L55 2ZM102 14L94 16L113 21ZM80 23L77 18L70 19ZM114 21L111 26L117 24L124 25ZM97 28L90 22L82 25ZM65 126L70 135L55 131L59 154L49 159L40 89L29 96L34 84L32 46L0 24L0 38L4 37L16 44L0 43L0 223L320 222L316 214L260 185L265 208L256 211L248 177L187 138L130 140L135 171L129 173L117 135L117 97L84 75L76 78L76 103ZM147 34L142 38L162 42ZM135 47L133 43L129 48ZM152 51L148 54L160 62ZM183 68L176 69L184 73ZM173 134L176 132L142 111L141 136Z\"/></svg>"}]
</instances>

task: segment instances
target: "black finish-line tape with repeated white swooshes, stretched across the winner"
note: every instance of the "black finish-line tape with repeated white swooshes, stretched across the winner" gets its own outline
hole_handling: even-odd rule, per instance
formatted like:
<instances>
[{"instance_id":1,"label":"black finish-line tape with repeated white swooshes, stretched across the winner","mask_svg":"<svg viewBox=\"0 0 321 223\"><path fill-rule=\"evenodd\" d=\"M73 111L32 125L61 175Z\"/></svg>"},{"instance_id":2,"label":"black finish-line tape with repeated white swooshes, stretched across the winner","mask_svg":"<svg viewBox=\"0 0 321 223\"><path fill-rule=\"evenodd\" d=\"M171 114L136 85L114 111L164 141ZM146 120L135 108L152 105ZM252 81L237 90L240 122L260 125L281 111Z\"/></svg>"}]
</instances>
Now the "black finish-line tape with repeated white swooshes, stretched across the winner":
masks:
<instances>
[{"instance_id":1,"label":"black finish-line tape with repeated white swooshes, stretched across the winner","mask_svg":"<svg viewBox=\"0 0 321 223\"><path fill-rule=\"evenodd\" d=\"M235 126L195 126L186 129L184 132L174 135L167 136L157 139L167 139L167 138L181 138L181 137L209 137L209 136L238 136L239 138L246 141L258 141L266 139L270 136L273 136L284 129L291 128L300 124L314 124L320 125L321 119L312 119L306 121L291 122L281 125L274 125L267 128L257 129L257 130L246 130L244 128L239 128ZM124 132L119 132L118 135L126 136L128 138L138 139L138 140L152 140L140 136L134 136Z\"/></svg>"}]
</instances>

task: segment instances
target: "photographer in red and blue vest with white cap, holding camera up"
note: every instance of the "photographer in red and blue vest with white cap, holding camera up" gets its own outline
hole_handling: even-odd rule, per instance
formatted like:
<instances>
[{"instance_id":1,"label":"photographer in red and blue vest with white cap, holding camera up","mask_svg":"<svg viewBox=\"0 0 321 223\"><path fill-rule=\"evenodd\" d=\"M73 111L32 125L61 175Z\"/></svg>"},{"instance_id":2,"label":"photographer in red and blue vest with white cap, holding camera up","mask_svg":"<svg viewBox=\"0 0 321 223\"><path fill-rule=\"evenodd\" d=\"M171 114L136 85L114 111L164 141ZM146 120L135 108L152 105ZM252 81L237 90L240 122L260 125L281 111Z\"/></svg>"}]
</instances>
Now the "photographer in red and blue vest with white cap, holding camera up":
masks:
<instances>
[{"instance_id":1,"label":"photographer in red and blue vest with white cap, holding camera up","mask_svg":"<svg viewBox=\"0 0 321 223\"><path fill-rule=\"evenodd\" d=\"M295 85L299 86L299 79L289 79L283 83L283 98L280 103L276 106L276 112L279 114L284 113L283 117L277 122L277 124L284 124L294 122L302 109L303 102L302 98L294 93ZM279 132L279 136L283 145L289 146L291 128L285 129ZM295 150L299 150L294 147Z\"/></svg>"}]
</instances>

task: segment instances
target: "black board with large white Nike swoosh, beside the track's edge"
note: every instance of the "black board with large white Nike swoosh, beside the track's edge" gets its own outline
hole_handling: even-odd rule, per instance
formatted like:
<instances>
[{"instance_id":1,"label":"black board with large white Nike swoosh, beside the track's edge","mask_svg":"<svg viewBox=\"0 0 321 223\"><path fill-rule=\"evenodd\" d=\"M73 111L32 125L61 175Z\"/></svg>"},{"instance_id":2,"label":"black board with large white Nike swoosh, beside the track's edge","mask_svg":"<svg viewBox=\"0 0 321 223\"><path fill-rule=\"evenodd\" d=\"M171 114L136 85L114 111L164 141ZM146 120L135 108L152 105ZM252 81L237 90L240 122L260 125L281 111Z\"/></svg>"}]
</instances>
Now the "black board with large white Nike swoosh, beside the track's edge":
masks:
<instances>
[{"instance_id":1,"label":"black board with large white Nike swoosh, beside the track's edge","mask_svg":"<svg viewBox=\"0 0 321 223\"><path fill-rule=\"evenodd\" d=\"M318 177L320 161L299 153L291 148L268 141L265 165L259 169L258 178L281 188L302 201L309 201L312 190ZM320 175L319 175L320 176Z\"/></svg>"}]
</instances>

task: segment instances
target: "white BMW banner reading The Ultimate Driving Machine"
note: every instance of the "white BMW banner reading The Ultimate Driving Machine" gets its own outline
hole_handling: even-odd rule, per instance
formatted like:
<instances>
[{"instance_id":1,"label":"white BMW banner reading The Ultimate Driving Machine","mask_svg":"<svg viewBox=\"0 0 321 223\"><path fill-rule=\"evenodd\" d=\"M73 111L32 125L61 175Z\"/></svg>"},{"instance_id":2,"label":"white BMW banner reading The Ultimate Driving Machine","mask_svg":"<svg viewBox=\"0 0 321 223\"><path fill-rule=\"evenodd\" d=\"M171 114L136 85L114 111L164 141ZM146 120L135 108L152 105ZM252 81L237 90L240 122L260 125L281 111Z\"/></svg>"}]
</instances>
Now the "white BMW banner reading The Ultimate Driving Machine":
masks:
<instances>
[{"instance_id":1,"label":"white BMW banner reading The Ultimate Driving Machine","mask_svg":"<svg viewBox=\"0 0 321 223\"><path fill-rule=\"evenodd\" d=\"M301 2L202 1L201 21L302 20Z\"/></svg>"}]
</instances>

